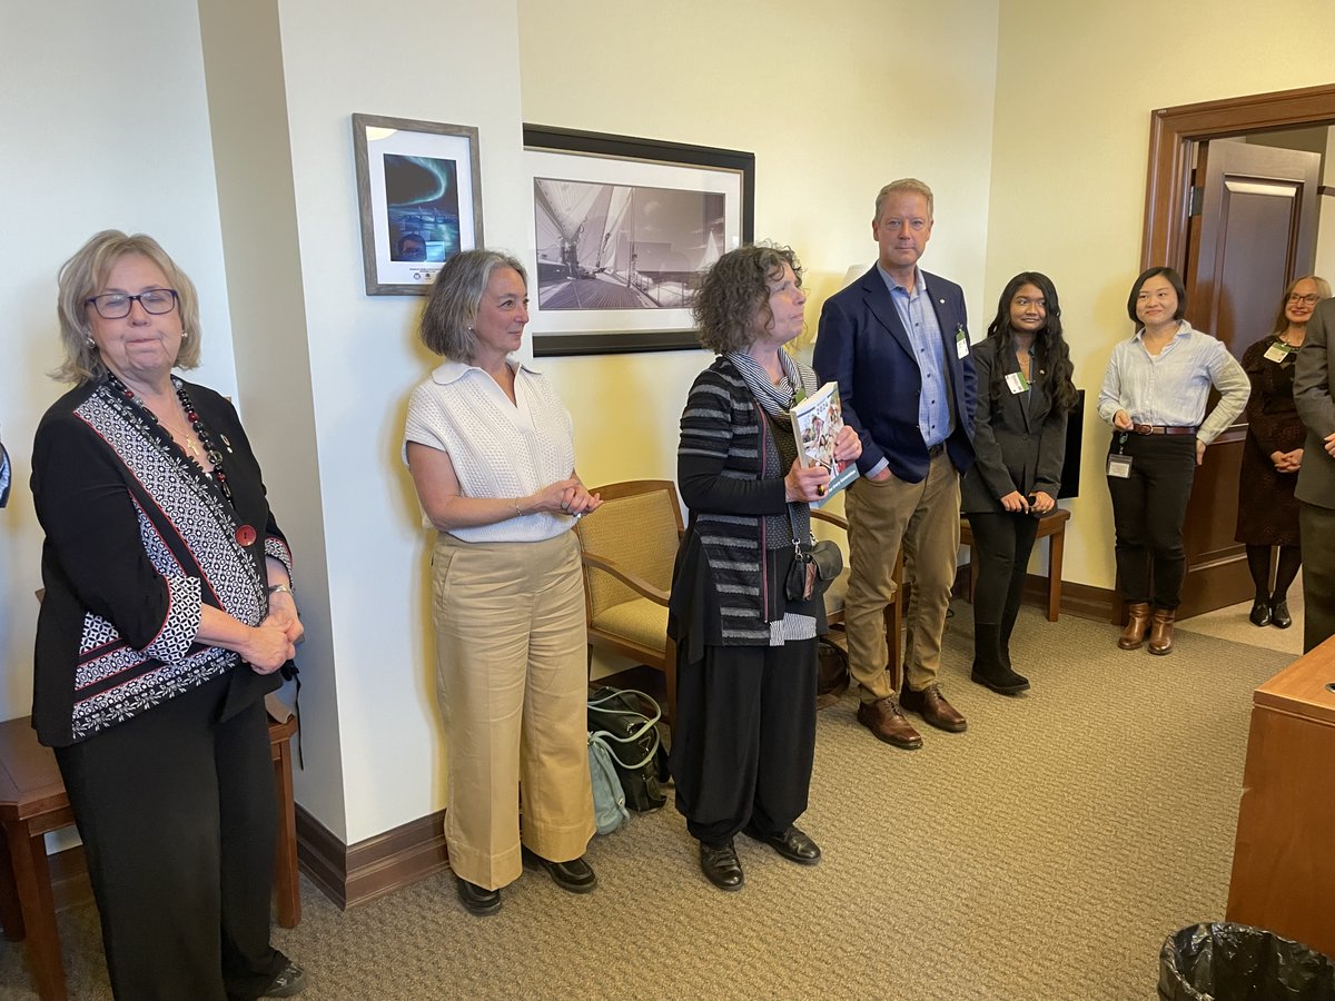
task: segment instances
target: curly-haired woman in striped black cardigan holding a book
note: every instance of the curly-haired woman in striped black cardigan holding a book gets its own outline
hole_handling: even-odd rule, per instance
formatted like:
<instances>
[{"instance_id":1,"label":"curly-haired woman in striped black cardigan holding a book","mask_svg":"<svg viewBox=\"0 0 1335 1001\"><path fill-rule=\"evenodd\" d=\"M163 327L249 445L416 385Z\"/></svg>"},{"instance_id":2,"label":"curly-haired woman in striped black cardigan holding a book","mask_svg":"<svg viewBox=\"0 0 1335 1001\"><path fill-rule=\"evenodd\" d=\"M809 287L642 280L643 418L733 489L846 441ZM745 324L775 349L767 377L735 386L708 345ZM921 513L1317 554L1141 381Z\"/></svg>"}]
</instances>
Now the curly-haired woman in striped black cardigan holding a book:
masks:
<instances>
[{"instance_id":1,"label":"curly-haired woman in striped black cardigan holding a book","mask_svg":"<svg viewBox=\"0 0 1335 1001\"><path fill-rule=\"evenodd\" d=\"M797 460L789 408L817 388L784 344L802 332L801 264L786 247L721 256L696 294L701 343L718 354L681 416L677 482L690 523L677 554L668 630L677 642L672 774L677 809L721 890L742 886L741 831L801 865L821 850L794 826L816 751L820 597L790 599L794 542L829 483ZM850 427L834 459L862 444Z\"/></svg>"}]
</instances>

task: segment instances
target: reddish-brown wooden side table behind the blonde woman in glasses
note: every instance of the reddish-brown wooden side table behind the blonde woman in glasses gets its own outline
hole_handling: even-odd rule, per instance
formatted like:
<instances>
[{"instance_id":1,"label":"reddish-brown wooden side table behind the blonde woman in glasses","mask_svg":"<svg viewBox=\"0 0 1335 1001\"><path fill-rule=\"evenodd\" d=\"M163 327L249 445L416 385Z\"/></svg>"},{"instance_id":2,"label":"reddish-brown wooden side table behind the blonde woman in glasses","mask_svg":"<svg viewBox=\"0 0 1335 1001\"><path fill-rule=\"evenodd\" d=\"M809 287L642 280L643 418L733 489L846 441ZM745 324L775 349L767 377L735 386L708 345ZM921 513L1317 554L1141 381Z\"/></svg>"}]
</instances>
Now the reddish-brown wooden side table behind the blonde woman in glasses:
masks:
<instances>
[{"instance_id":1,"label":"reddish-brown wooden side table behind the blonde woman in glasses","mask_svg":"<svg viewBox=\"0 0 1335 1001\"><path fill-rule=\"evenodd\" d=\"M278 783L278 853L274 884L278 924L296 928L302 898L296 873L296 819L292 803L291 737L296 719L268 723ZM65 970L51 897L47 831L75 822L56 755L37 743L31 717L0 722L0 925L9 941L27 941L28 962L41 1001L64 1001Z\"/></svg>"}]
</instances>

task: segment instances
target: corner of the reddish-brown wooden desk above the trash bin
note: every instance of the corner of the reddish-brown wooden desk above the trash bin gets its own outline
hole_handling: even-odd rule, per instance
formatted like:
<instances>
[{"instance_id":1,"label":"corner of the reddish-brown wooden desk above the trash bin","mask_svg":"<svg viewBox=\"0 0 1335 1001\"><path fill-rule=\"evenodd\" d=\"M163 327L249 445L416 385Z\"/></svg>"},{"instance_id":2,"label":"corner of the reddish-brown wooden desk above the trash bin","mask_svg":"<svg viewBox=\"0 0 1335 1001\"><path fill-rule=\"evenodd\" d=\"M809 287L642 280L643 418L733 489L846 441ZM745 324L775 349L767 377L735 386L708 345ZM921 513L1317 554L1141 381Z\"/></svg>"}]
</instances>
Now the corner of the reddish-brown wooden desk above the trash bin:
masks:
<instances>
[{"instance_id":1,"label":"corner of the reddish-brown wooden desk above the trash bin","mask_svg":"<svg viewBox=\"0 0 1335 1001\"><path fill-rule=\"evenodd\" d=\"M1228 920L1335 956L1335 639L1252 695Z\"/></svg>"}]
</instances>

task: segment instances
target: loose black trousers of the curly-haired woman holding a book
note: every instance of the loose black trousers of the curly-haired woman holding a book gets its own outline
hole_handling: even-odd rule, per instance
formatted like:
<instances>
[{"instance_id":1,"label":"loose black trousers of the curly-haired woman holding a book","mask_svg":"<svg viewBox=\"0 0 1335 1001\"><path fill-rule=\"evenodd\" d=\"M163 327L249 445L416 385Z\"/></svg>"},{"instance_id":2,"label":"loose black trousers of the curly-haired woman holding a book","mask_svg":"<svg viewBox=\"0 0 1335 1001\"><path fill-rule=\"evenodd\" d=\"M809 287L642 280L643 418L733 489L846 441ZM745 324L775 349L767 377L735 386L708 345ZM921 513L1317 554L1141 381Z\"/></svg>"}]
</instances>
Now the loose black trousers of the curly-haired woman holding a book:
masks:
<instances>
[{"instance_id":1,"label":"loose black trousers of the curly-haired woman holding a book","mask_svg":"<svg viewBox=\"0 0 1335 1001\"><path fill-rule=\"evenodd\" d=\"M693 837L717 845L748 822L780 834L806 811L816 642L706 646L702 662L677 666L670 763Z\"/></svg>"}]
</instances>

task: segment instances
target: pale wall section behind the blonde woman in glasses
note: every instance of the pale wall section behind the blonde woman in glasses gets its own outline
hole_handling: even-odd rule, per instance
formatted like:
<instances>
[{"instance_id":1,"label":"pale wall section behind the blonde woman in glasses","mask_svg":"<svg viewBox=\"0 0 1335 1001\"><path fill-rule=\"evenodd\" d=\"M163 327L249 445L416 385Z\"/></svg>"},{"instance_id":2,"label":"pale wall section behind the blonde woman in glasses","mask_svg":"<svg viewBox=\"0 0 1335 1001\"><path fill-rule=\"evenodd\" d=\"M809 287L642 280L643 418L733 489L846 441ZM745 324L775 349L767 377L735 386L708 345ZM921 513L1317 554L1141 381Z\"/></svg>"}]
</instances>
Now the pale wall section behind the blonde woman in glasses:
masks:
<instances>
[{"instance_id":1,"label":"pale wall section behind the blonde woman in glasses","mask_svg":"<svg viewBox=\"0 0 1335 1001\"><path fill-rule=\"evenodd\" d=\"M60 264L99 230L155 236L199 287L204 358L191 378L235 394L236 375L195 5L7 3L4 43L0 435L15 484L0 511L0 718L9 719L32 711L43 538L28 492L32 435L68 388L47 378L60 360Z\"/></svg>"}]
</instances>

